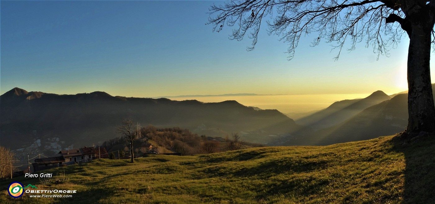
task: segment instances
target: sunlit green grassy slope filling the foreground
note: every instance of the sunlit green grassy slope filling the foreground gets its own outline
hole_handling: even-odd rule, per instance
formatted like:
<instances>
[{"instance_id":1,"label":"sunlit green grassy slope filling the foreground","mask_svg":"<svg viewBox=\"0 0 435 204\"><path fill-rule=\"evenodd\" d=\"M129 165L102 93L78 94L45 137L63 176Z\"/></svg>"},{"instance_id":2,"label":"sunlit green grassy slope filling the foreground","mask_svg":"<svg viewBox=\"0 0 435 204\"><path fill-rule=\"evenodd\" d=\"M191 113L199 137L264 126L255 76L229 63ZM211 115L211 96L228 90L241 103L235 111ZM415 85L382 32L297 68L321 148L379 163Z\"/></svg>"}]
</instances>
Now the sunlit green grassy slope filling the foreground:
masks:
<instances>
[{"instance_id":1,"label":"sunlit green grassy slope filling the foreground","mask_svg":"<svg viewBox=\"0 0 435 204\"><path fill-rule=\"evenodd\" d=\"M72 198L0 203L434 203L435 139L395 137L325 147L259 147L197 156L150 155L52 169L68 181L40 190L77 190ZM48 172L48 171L47 171Z\"/></svg>"}]
</instances>

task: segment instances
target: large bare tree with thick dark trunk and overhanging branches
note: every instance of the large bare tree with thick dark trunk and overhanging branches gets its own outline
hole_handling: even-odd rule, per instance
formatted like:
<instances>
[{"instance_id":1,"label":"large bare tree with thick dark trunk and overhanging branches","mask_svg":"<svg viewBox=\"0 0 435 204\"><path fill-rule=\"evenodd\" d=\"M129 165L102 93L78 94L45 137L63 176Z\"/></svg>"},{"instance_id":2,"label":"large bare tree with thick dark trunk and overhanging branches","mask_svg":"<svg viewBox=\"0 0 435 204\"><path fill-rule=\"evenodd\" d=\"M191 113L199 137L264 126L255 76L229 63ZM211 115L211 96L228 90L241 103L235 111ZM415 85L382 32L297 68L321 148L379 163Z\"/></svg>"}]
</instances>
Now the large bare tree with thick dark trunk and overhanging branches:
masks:
<instances>
[{"instance_id":1,"label":"large bare tree with thick dark trunk and overhanging branches","mask_svg":"<svg viewBox=\"0 0 435 204\"><path fill-rule=\"evenodd\" d=\"M252 50L262 23L268 34L277 34L289 43L289 60L294 57L301 35L316 34L313 45L322 39L338 49L345 41L361 41L379 55L389 55L403 35L409 37L408 49L408 127L405 133L435 132L435 107L429 70L431 45L435 44L435 0L231 0L210 7L207 24L214 31L224 25L235 26L230 39L252 39ZM271 20L264 22L263 18Z\"/></svg>"}]
</instances>

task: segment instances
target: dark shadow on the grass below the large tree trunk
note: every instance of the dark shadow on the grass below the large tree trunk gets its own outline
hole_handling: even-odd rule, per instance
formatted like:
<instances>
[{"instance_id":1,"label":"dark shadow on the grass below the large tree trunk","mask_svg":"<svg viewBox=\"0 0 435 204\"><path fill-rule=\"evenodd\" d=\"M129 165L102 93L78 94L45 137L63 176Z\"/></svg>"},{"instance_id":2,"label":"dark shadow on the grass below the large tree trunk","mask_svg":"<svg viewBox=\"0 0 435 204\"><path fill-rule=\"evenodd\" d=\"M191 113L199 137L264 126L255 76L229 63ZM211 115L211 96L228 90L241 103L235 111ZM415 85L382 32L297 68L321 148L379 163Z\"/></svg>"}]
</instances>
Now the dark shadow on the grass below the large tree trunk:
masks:
<instances>
[{"instance_id":1,"label":"dark shadow on the grass below the large tree trunk","mask_svg":"<svg viewBox=\"0 0 435 204\"><path fill-rule=\"evenodd\" d=\"M405 189L402 204L435 203L435 136L412 140L394 137L394 150L405 156Z\"/></svg>"}]
</instances>

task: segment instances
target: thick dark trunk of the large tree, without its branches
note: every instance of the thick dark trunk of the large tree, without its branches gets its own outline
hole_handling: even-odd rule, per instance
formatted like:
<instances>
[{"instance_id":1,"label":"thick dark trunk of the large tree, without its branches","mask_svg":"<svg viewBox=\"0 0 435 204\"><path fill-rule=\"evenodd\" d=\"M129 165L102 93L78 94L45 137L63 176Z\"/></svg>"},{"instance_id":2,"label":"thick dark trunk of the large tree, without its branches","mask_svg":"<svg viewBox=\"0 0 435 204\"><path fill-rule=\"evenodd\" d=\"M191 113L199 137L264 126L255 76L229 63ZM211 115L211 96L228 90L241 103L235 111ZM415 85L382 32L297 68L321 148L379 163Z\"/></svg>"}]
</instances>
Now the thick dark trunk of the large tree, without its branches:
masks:
<instances>
[{"instance_id":1,"label":"thick dark trunk of the large tree, without its branches","mask_svg":"<svg viewBox=\"0 0 435 204\"><path fill-rule=\"evenodd\" d=\"M435 107L430 76L431 29L412 25L408 50L408 127L415 136L421 131L435 132Z\"/></svg>"}]
</instances>

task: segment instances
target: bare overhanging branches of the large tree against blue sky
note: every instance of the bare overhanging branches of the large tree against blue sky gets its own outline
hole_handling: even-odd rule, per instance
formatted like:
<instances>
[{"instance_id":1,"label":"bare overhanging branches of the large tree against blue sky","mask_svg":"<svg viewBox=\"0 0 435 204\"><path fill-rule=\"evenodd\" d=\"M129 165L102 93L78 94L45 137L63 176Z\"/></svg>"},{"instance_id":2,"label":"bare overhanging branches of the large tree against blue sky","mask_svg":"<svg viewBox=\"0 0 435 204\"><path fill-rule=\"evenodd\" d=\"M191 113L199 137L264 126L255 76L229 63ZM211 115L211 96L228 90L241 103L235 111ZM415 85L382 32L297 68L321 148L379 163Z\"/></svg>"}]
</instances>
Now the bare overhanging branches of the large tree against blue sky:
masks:
<instances>
[{"instance_id":1,"label":"bare overhanging branches of the large tree against blue sky","mask_svg":"<svg viewBox=\"0 0 435 204\"><path fill-rule=\"evenodd\" d=\"M263 17L270 15L273 20L267 21L268 34L276 34L289 44L289 60L301 36L312 33L317 35L313 46L325 39L335 43L338 56L346 40L351 42L349 51L355 49L355 43L365 40L376 53L388 55L402 37L403 31L395 27L406 24L398 0L231 0L209 10L207 24L213 24L217 32L225 25L234 26L231 40L242 40L248 34L252 39L248 50L254 49L258 41Z\"/></svg>"}]
</instances>

